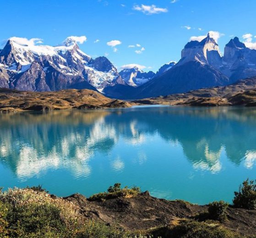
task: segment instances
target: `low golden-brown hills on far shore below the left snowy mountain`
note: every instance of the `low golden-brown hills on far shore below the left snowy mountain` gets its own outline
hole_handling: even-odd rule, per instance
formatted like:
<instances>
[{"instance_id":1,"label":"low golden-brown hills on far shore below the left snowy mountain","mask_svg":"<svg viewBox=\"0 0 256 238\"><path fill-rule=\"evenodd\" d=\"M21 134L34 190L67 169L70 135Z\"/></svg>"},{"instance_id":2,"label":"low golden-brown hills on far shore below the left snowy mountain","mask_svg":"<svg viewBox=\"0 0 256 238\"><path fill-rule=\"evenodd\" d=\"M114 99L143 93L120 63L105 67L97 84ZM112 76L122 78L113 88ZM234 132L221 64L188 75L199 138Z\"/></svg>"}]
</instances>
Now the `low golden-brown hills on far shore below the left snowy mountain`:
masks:
<instances>
[{"instance_id":1,"label":"low golden-brown hills on far shore below the left snowy mountain","mask_svg":"<svg viewBox=\"0 0 256 238\"><path fill-rule=\"evenodd\" d=\"M130 106L130 103L113 100L88 89L68 89L58 92L0 89L0 112L126 108Z\"/></svg>"}]
</instances>

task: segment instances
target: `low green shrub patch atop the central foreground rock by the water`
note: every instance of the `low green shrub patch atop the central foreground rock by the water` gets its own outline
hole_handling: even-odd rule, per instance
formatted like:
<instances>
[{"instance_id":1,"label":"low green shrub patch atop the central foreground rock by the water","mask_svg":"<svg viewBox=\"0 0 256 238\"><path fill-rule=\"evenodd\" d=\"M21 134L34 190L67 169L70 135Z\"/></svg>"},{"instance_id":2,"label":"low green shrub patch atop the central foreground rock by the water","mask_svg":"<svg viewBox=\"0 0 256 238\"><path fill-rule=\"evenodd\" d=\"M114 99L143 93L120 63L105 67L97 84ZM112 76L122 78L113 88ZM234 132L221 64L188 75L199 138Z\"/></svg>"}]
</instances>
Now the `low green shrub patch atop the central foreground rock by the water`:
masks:
<instances>
[{"instance_id":1,"label":"low green shrub patch atop the central foreground rock by the water","mask_svg":"<svg viewBox=\"0 0 256 238\"><path fill-rule=\"evenodd\" d=\"M121 184L114 184L114 186L110 186L108 192L98 193L90 196L88 200L96 201L96 200L107 200L118 197L126 197L130 198L141 193L141 189L139 187L133 186L129 189L125 186L123 189L121 188Z\"/></svg>"}]
</instances>

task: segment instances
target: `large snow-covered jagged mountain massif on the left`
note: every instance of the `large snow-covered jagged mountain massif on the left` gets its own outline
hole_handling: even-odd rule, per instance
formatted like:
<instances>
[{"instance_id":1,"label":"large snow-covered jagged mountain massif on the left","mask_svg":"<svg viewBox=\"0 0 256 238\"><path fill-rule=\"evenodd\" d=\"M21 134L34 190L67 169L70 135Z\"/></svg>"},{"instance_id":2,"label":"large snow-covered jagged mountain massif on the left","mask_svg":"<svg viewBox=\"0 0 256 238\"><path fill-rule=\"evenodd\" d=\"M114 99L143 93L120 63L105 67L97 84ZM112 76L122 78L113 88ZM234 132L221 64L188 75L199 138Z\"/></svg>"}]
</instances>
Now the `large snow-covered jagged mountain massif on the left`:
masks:
<instances>
[{"instance_id":1,"label":"large snow-covered jagged mountain massif on the left","mask_svg":"<svg viewBox=\"0 0 256 238\"><path fill-rule=\"evenodd\" d=\"M28 91L55 91L124 84L105 57L92 59L76 40L68 37L58 46L42 45L39 39L10 38L0 50L0 87Z\"/></svg>"}]
</instances>

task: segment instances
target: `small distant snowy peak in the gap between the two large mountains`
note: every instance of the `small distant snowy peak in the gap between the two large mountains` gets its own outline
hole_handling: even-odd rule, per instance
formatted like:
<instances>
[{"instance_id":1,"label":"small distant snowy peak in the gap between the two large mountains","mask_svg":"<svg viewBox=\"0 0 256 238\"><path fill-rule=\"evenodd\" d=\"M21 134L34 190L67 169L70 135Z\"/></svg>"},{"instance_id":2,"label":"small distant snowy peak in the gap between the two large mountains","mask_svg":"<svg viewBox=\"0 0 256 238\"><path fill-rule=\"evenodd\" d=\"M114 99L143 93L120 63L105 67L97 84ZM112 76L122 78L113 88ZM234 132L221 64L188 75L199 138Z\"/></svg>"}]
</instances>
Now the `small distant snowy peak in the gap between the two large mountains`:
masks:
<instances>
[{"instance_id":1,"label":"small distant snowy peak in the gap between the two large mountains","mask_svg":"<svg viewBox=\"0 0 256 238\"><path fill-rule=\"evenodd\" d=\"M154 72L143 72L136 66L121 70L119 74L125 81L125 83L132 87L140 86L146 83L147 81L151 80L155 76Z\"/></svg>"}]
</instances>

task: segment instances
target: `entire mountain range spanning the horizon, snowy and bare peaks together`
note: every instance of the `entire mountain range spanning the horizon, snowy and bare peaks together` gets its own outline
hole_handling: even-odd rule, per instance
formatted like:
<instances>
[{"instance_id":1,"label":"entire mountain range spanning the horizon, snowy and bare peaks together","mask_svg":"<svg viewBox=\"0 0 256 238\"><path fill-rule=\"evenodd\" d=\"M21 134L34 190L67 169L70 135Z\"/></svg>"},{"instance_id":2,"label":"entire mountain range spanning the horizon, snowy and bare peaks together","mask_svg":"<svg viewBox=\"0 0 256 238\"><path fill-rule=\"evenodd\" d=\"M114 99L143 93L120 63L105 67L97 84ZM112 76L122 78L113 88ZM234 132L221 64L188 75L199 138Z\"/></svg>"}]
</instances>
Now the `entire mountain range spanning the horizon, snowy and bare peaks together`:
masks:
<instances>
[{"instance_id":1,"label":"entire mountain range spanning the horizon, snowy and bare peaks together","mask_svg":"<svg viewBox=\"0 0 256 238\"><path fill-rule=\"evenodd\" d=\"M92 59L79 49L74 37L58 46L38 39L10 38L0 50L0 87L23 91L92 89L107 97L139 99L226 86L256 76L256 50L235 37L223 56L211 32L201 41L190 41L175 64L157 73L138 67L120 72L106 57Z\"/></svg>"}]
</instances>

